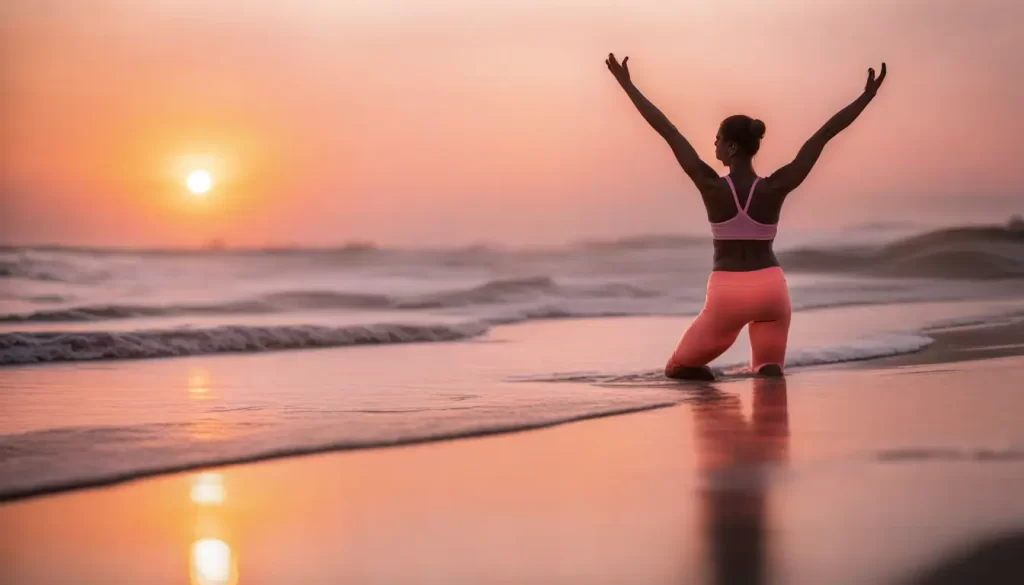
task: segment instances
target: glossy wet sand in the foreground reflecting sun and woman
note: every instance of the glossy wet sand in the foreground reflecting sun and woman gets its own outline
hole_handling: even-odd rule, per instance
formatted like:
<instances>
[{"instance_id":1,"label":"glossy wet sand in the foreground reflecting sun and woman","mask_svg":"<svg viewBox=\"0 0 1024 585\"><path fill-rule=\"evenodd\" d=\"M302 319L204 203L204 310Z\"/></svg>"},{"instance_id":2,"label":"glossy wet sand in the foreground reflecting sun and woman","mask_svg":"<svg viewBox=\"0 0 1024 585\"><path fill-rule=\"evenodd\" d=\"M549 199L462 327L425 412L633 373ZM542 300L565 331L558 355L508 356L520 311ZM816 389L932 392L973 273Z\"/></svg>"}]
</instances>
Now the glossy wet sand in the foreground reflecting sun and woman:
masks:
<instances>
[{"instance_id":1,"label":"glossy wet sand in the foreground reflecting sun and woman","mask_svg":"<svg viewBox=\"0 0 1024 585\"><path fill-rule=\"evenodd\" d=\"M12 502L0 581L1019 583L1020 332L680 386L644 413Z\"/></svg>"}]
</instances>

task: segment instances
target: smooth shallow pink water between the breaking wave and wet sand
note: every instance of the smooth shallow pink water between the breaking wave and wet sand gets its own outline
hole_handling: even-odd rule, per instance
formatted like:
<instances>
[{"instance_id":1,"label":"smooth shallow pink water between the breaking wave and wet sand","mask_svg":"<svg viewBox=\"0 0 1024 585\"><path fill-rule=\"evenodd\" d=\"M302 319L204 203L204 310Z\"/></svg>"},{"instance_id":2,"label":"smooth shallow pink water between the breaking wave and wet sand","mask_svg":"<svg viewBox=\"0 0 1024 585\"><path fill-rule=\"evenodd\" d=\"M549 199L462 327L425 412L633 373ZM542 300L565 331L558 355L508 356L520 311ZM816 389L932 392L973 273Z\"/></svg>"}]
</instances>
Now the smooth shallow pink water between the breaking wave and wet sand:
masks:
<instances>
[{"instance_id":1,"label":"smooth shallow pink water between the breaking wave and wet sand","mask_svg":"<svg viewBox=\"0 0 1024 585\"><path fill-rule=\"evenodd\" d=\"M929 323L1018 308L962 302L808 311L795 320L791 356L823 364L905 351L928 342L914 332ZM0 495L674 404L686 384L658 372L687 323L547 321L470 341L8 368L0 378ZM741 337L716 366L740 365L748 352ZM595 385L609 378L617 387Z\"/></svg>"}]
</instances>

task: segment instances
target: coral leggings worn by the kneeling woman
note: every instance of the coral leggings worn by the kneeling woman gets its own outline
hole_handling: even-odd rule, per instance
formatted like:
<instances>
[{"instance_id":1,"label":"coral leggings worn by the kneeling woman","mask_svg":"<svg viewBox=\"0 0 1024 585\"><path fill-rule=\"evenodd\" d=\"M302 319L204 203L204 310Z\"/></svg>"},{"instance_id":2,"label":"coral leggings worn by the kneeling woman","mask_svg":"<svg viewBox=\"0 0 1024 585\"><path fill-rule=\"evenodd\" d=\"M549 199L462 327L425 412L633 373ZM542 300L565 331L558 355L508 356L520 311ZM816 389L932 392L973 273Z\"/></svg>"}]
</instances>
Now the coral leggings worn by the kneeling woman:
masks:
<instances>
[{"instance_id":1,"label":"coral leggings worn by the kneeling woman","mask_svg":"<svg viewBox=\"0 0 1024 585\"><path fill-rule=\"evenodd\" d=\"M718 358L750 325L751 367L784 366L790 334L790 290L778 266L732 273L715 270L700 315L683 333L665 367L666 374L684 367L700 367Z\"/></svg>"}]
</instances>

